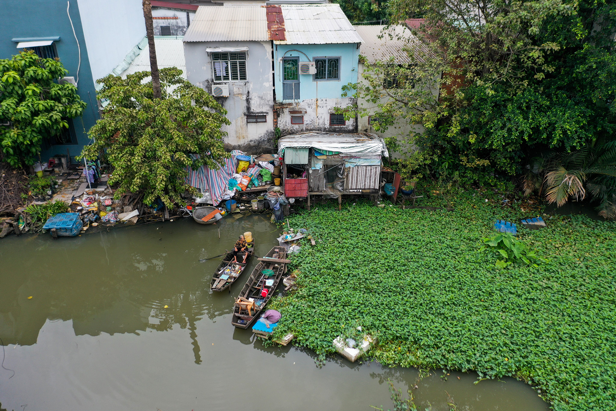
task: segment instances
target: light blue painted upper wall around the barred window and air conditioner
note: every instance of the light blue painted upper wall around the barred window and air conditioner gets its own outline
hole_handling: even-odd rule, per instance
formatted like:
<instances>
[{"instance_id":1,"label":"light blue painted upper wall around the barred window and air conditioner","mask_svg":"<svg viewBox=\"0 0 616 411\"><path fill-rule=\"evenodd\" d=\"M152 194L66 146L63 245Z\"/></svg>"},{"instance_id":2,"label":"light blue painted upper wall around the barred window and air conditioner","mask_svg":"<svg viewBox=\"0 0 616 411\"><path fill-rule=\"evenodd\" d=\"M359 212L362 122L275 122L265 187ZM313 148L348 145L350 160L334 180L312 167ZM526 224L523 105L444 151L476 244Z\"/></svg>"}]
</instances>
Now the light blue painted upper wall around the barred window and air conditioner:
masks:
<instances>
[{"instance_id":1,"label":"light blue painted upper wall around the barred window and air conditioner","mask_svg":"<svg viewBox=\"0 0 616 411\"><path fill-rule=\"evenodd\" d=\"M299 75L299 97L308 99L341 98L342 86L347 83L357 83L357 60L359 49L357 44L275 44L274 74L276 101L282 102L282 59L283 57L299 57L299 61L313 61L314 57L341 57L340 80L312 80L312 75ZM318 84L317 84L318 83Z\"/></svg>"}]
</instances>

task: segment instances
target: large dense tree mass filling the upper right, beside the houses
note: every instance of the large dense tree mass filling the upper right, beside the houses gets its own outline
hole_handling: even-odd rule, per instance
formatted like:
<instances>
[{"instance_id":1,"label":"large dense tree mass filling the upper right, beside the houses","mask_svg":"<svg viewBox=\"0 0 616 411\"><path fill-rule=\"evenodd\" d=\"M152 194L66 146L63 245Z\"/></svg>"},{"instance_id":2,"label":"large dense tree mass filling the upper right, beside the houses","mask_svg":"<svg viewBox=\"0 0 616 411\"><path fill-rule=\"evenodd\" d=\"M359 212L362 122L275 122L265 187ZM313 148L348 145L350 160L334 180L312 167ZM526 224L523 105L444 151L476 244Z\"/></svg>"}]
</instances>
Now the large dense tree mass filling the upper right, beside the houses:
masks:
<instances>
[{"instance_id":1,"label":"large dense tree mass filling the upper right, beside the houses","mask_svg":"<svg viewBox=\"0 0 616 411\"><path fill-rule=\"evenodd\" d=\"M410 136L429 161L426 173L488 183L524 172L540 151L570 152L614 138L614 2L391 0L389 13L392 22L424 18L414 33L432 64L408 39L415 68L373 64L375 81L357 95L387 96L374 114L383 128L396 119L426 127ZM411 70L418 81L386 89L379 70L394 78ZM431 78L440 88L432 100L415 87Z\"/></svg>"}]
</instances>

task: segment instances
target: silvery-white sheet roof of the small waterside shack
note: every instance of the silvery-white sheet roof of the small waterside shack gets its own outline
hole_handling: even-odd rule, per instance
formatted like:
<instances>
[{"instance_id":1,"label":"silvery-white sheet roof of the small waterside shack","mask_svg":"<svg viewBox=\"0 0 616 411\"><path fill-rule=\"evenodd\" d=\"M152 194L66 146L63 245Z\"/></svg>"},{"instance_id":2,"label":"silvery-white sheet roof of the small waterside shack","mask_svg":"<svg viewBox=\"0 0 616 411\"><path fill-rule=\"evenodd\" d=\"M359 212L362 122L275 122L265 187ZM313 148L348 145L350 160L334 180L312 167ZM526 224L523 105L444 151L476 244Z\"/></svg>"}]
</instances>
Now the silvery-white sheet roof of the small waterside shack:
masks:
<instances>
[{"instance_id":1,"label":"silvery-white sheet roof of the small waterside shack","mask_svg":"<svg viewBox=\"0 0 616 411\"><path fill-rule=\"evenodd\" d=\"M278 155L282 156L283 151L288 147L309 147L318 151L338 151L355 157L389 155L383 139L368 133L304 131L278 139Z\"/></svg>"}]
</instances>

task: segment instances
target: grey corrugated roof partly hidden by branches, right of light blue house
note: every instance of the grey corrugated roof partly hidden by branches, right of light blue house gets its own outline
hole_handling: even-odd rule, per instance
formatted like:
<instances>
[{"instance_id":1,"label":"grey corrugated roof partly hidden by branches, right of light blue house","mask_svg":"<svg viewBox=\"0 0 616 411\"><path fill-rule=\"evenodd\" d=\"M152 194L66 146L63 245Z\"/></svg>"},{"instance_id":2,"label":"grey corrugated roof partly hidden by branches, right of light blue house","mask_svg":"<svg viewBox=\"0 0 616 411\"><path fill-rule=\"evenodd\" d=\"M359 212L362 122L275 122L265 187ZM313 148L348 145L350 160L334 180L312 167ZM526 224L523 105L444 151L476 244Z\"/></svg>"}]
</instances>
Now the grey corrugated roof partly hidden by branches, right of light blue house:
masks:
<instances>
[{"instance_id":1,"label":"grey corrugated roof partly hidden by branches, right of light blue house","mask_svg":"<svg viewBox=\"0 0 616 411\"><path fill-rule=\"evenodd\" d=\"M406 64L413 60L410 55L413 55L415 60L424 61L428 47L421 43L407 27L393 26L384 30L386 27L354 26L363 39L359 48L360 54L366 57L368 62L386 61L394 57L395 64Z\"/></svg>"}]
</instances>

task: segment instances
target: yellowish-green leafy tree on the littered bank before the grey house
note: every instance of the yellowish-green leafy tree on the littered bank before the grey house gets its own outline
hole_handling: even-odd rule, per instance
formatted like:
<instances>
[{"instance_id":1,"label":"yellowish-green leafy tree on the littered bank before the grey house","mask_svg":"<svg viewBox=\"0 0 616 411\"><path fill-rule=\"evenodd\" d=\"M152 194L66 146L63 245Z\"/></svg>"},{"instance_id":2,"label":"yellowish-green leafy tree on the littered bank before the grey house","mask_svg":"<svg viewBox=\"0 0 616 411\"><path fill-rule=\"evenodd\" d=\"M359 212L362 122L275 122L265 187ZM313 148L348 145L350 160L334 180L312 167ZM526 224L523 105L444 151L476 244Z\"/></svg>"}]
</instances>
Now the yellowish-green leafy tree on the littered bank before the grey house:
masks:
<instances>
[{"instance_id":1,"label":"yellowish-green leafy tree on the littered bank before the grey house","mask_svg":"<svg viewBox=\"0 0 616 411\"><path fill-rule=\"evenodd\" d=\"M221 131L229 124L227 113L203 89L180 77L176 67L160 70L162 97L153 98L152 82L143 82L150 72L138 72L126 79L108 75L99 80L100 99L109 102L102 118L89 131L94 143L84 147L82 157L102 154L113 167L111 184L119 184L118 195L144 191L144 201L156 197L168 206L181 203L185 190L185 167L217 162L229 153L224 150ZM192 159L190 154L199 154Z\"/></svg>"}]
</instances>

